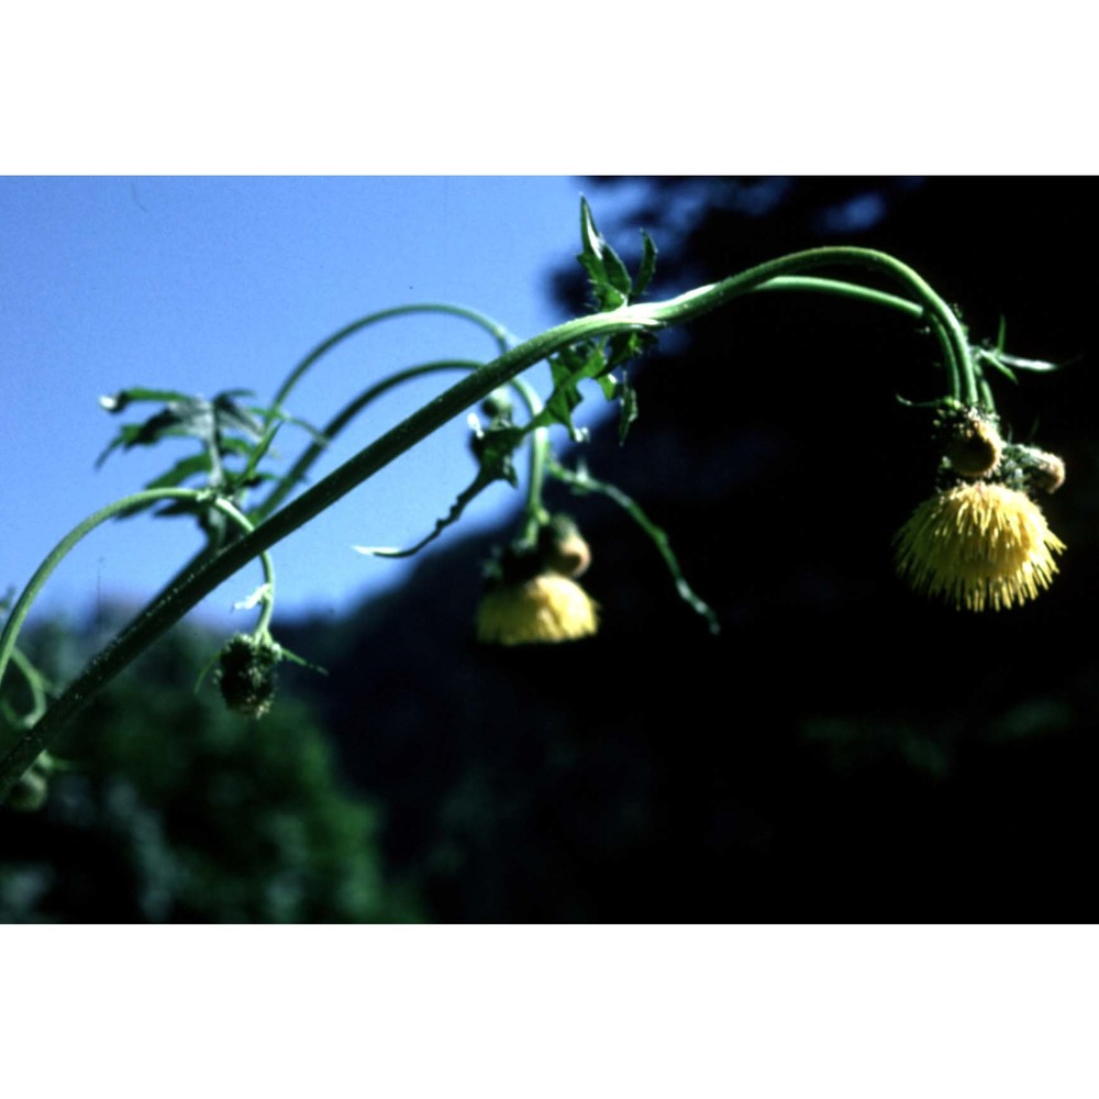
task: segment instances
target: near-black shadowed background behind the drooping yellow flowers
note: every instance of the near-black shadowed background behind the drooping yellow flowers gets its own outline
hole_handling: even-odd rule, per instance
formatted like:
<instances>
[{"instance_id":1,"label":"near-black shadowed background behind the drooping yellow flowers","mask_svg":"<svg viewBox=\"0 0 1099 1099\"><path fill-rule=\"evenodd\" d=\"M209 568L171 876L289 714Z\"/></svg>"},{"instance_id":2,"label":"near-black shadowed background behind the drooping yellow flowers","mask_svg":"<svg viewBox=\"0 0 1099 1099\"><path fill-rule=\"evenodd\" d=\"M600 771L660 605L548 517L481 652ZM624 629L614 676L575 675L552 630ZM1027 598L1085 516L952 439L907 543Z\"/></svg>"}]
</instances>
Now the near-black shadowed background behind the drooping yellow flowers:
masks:
<instances>
[{"instance_id":1,"label":"near-black shadowed background behind the drooping yellow flowers","mask_svg":"<svg viewBox=\"0 0 1099 1099\"><path fill-rule=\"evenodd\" d=\"M1094 180L586 187L622 253L640 246L640 227L656 241L653 297L786 251L858 244L913 266L958 303L974 338L995 338L1003 315L1008 351L1068 364L997 387L1013 436L1066 460L1064 489L1043 501L1069 546L1062 575L1032 604L979 615L906 590L891 540L930 495L936 456L929 414L897 396L941 396L933 344L865 304L741 300L662 337L633 371L641 414L625 445L608 423L584 448L596 476L668 532L721 635L678 601L652 544L612 503L556 490L552 502L592 547L585 584L603 629L571 645L480 647L480 563L514 532L456 528L406 589L338 622L277 631L330 671L284 676L334 745L338 779L323 773L320 801L374 807L382 826L366 832L378 865L436 921L1085 917L1099 455L1088 418L1095 279L1076 257L1095 236ZM600 217L612 188L637 198L621 225ZM584 308L578 268L556 292ZM89 722L104 720L97 712ZM170 810L185 836L209 818L212 796L204 765L189 766ZM87 780L63 776L57 787ZM125 843L120 832L114 850ZM347 857L355 844L336 846ZM218 850L210 873L226 881L278 873L255 852L234 867ZM23 856L9 847L7 857ZM358 914L306 899L282 911L202 909L177 893L166 908L131 904L113 918L411 912L377 891ZM81 914L100 910L74 902L53 913Z\"/></svg>"}]
</instances>

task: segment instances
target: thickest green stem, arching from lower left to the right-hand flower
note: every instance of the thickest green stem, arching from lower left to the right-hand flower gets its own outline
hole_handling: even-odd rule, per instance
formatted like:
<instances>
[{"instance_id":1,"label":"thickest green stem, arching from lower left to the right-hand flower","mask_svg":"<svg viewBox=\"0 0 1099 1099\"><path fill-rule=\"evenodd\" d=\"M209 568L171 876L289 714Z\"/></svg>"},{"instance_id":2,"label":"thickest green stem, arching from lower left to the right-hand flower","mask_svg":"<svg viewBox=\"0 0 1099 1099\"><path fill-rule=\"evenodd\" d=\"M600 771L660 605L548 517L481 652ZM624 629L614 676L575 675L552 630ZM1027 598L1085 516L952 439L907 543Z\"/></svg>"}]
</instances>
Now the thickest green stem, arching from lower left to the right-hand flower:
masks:
<instances>
[{"instance_id":1,"label":"thickest green stem, arching from lower left to the right-hand flower","mask_svg":"<svg viewBox=\"0 0 1099 1099\"><path fill-rule=\"evenodd\" d=\"M929 314L939 322L935 325L935 331L940 340L950 345L957 362L963 364L967 388L973 389L973 403L976 403L976 384L973 364L969 360L968 344L953 312L910 268L885 253L865 248L815 248L795 253L761 264L712 286L690 290L665 302L625 306L610 312L581 317L558 324L541 335L503 352L492 363L469 374L375 440L374 443L364 447L296 500L269 515L249 534L188 569L178 582L173 584L169 589L155 599L107 648L88 664L34 729L30 730L18 744L0 758L0 799L7 795L37 754L48 745L57 730L96 691L113 679L142 651L214 588L229 579L253 557L259 556L299 526L310 522L322 511L332 507L337 500L384 469L455 415L484 400L493 389L508 384L529 367L574 344L599 336L613 335L618 332L654 330L670 324L685 323L742 297L768 279L830 264L880 269L913 290ZM434 308L435 311L439 311L439 307ZM401 310L387 311L385 315L397 315L400 312L409 311L412 311L411 307L404 307ZM315 362L324 351L340 338L349 335L352 331L357 331L380 315L382 314L373 314L369 319L348 325L320 345L291 375L281 390L281 396L285 397L289 387L303 369L311 362ZM967 392L967 399L969 396ZM23 610L25 613L25 608Z\"/></svg>"}]
</instances>

